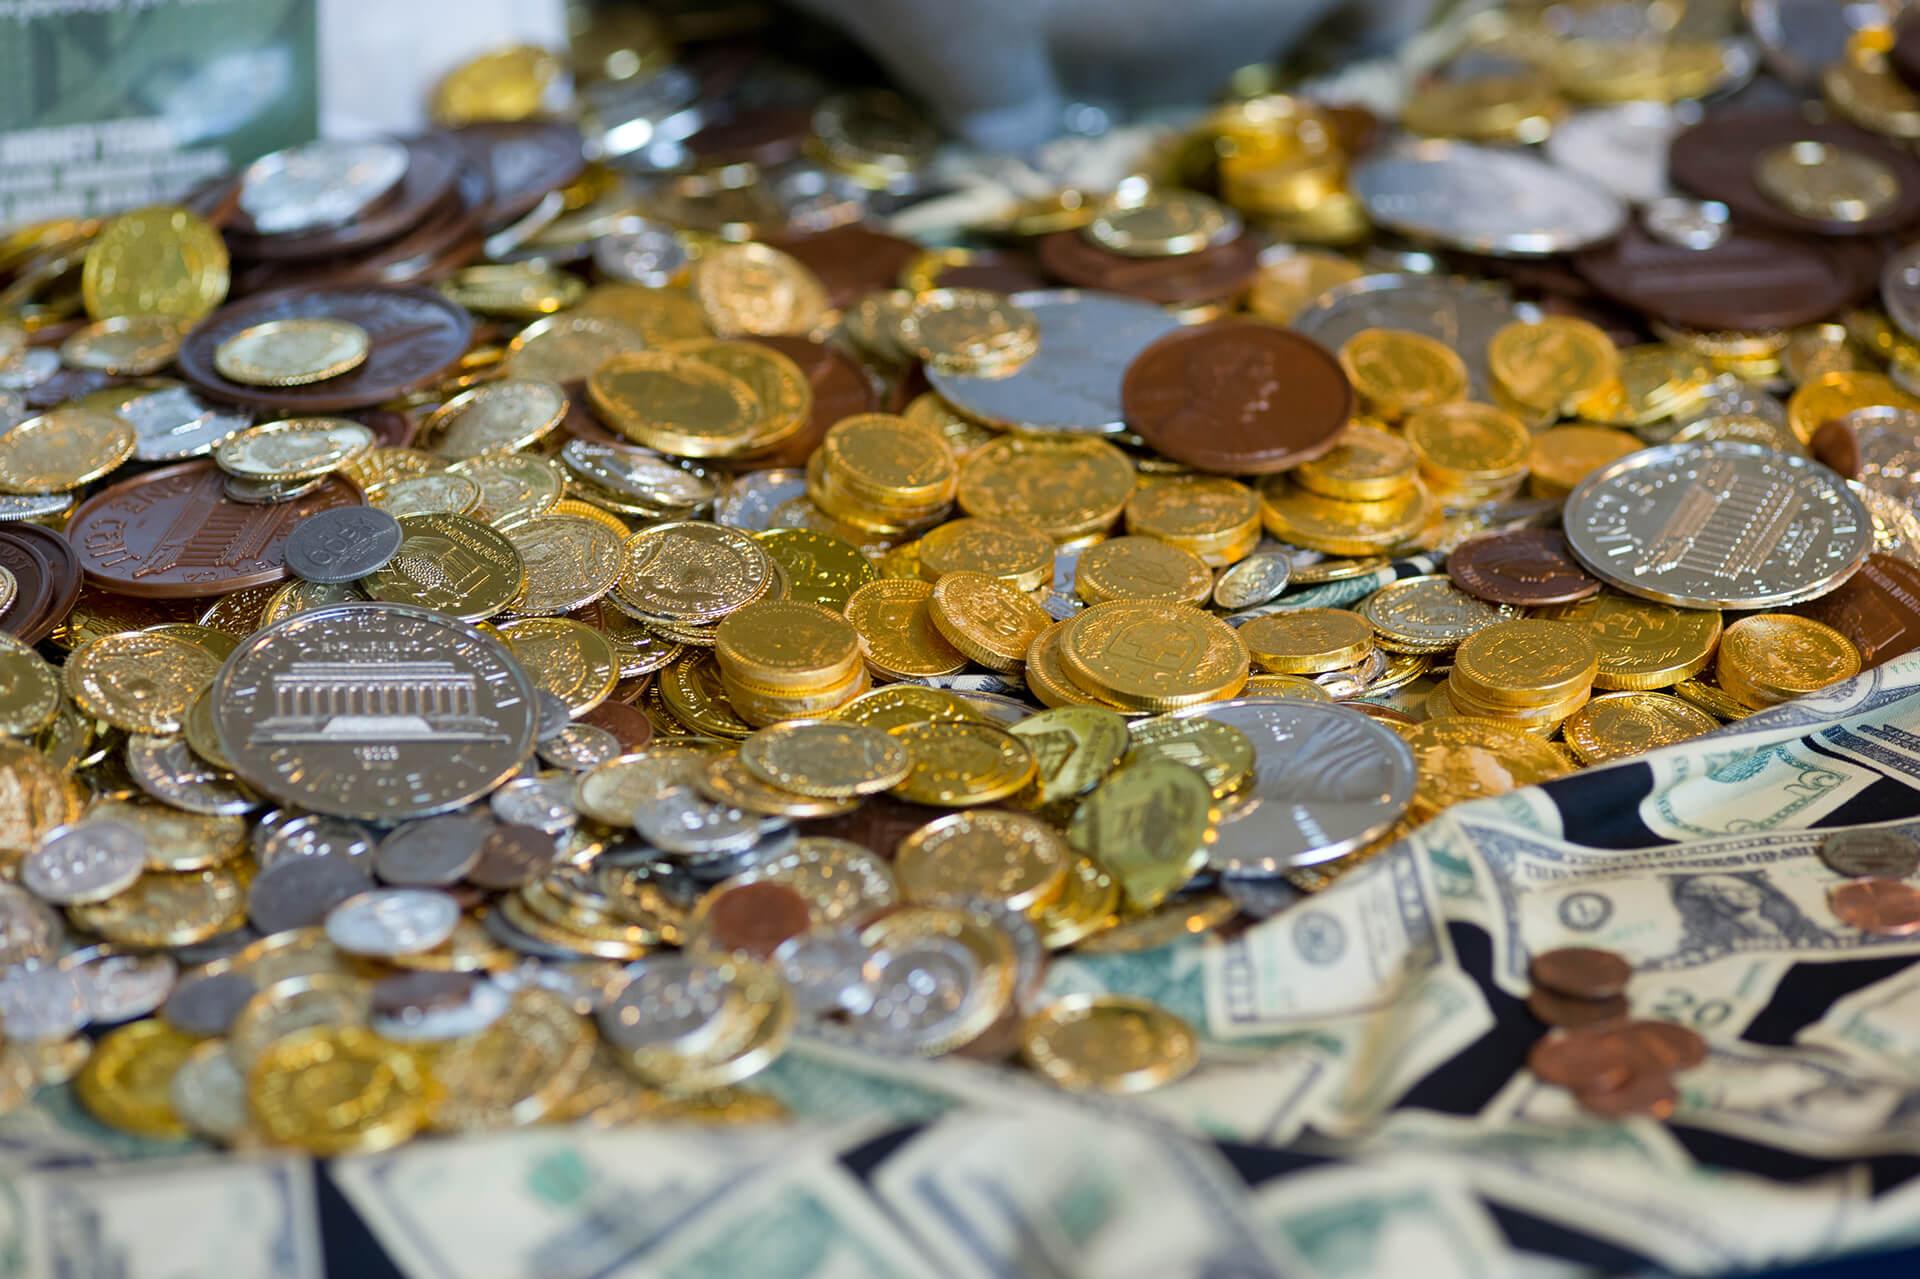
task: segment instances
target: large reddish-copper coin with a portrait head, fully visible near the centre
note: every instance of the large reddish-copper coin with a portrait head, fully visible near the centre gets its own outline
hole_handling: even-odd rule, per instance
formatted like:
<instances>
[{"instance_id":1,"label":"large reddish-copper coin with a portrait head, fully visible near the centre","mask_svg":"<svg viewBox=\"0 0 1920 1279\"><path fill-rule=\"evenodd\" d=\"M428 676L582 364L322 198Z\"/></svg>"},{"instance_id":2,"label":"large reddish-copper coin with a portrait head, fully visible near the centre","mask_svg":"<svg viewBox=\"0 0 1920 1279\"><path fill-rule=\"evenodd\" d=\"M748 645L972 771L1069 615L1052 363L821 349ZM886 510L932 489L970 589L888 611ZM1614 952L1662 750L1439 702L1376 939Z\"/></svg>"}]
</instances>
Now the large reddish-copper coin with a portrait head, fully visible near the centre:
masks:
<instances>
[{"instance_id":1,"label":"large reddish-copper coin with a portrait head, fully visible near the centre","mask_svg":"<svg viewBox=\"0 0 1920 1279\"><path fill-rule=\"evenodd\" d=\"M1135 355L1121 409L1173 461L1271 474L1332 447L1354 415L1354 388L1317 342L1225 323L1171 332Z\"/></svg>"}]
</instances>

